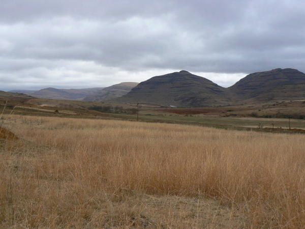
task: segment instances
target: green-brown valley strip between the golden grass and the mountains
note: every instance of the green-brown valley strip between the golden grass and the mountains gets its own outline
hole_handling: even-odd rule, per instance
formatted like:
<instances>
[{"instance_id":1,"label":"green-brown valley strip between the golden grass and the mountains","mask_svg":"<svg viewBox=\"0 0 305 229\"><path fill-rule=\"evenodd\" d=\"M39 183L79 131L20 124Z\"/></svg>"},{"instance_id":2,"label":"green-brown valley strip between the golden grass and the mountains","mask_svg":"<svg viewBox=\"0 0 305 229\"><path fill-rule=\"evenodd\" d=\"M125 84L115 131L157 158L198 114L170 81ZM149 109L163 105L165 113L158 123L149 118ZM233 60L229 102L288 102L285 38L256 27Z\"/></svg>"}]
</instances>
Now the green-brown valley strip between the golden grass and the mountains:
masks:
<instances>
[{"instance_id":1,"label":"green-brown valley strip between the golden grass and the mountains","mask_svg":"<svg viewBox=\"0 0 305 229\"><path fill-rule=\"evenodd\" d=\"M0 110L4 108L6 101L8 101L5 109L6 114L137 120L136 104L0 97ZM203 108L168 108L140 104L138 118L144 122L187 124L235 130L303 133L305 132L304 105L304 101ZM287 117L292 117L292 119L289 121ZM298 117L302 119L296 119ZM288 130L289 126L294 130Z\"/></svg>"}]
</instances>

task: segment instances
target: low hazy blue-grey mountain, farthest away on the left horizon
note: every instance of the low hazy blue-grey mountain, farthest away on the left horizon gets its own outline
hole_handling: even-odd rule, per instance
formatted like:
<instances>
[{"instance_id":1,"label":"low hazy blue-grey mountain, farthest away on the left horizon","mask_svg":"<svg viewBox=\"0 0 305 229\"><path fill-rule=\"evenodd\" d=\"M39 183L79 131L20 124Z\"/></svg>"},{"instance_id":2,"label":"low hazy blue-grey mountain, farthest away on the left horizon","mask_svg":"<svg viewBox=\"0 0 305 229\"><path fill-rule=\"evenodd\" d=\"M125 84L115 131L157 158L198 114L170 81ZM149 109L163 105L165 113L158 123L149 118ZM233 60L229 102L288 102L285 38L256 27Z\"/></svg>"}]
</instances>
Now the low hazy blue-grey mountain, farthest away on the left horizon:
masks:
<instances>
[{"instance_id":1,"label":"low hazy blue-grey mountain, farthest away on the left horizon","mask_svg":"<svg viewBox=\"0 0 305 229\"><path fill-rule=\"evenodd\" d=\"M45 88L35 91L31 96L44 99L82 100L83 98L98 93L103 88L88 89L55 89Z\"/></svg>"}]
</instances>

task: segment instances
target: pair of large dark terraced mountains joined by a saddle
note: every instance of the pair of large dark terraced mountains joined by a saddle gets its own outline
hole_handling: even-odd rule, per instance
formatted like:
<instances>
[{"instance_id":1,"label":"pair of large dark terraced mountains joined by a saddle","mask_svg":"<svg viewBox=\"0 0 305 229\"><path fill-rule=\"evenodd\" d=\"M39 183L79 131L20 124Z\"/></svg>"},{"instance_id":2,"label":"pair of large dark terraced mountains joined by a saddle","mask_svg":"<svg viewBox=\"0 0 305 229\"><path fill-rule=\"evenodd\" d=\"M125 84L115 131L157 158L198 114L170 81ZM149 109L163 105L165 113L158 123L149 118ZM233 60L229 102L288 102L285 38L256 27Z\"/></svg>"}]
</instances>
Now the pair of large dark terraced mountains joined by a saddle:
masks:
<instances>
[{"instance_id":1,"label":"pair of large dark terraced mountains joined by a saddle","mask_svg":"<svg viewBox=\"0 0 305 229\"><path fill-rule=\"evenodd\" d=\"M187 71L155 76L116 101L174 106L219 106L305 99L305 74L296 69L273 69L247 75L232 87Z\"/></svg>"}]
</instances>

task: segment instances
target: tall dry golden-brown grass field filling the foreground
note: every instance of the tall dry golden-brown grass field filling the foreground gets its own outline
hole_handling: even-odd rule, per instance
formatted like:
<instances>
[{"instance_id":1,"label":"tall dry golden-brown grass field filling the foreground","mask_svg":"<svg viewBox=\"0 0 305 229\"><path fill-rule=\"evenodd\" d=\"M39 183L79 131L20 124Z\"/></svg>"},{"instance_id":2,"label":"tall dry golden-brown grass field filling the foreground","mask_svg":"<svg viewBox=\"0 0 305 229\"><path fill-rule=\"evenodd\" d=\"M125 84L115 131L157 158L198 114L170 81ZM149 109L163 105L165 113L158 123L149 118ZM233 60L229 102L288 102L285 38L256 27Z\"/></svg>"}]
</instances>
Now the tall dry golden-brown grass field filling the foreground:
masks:
<instances>
[{"instance_id":1,"label":"tall dry golden-brown grass field filling the foreground","mask_svg":"<svg viewBox=\"0 0 305 229\"><path fill-rule=\"evenodd\" d=\"M5 116L3 228L302 228L305 135Z\"/></svg>"}]
</instances>

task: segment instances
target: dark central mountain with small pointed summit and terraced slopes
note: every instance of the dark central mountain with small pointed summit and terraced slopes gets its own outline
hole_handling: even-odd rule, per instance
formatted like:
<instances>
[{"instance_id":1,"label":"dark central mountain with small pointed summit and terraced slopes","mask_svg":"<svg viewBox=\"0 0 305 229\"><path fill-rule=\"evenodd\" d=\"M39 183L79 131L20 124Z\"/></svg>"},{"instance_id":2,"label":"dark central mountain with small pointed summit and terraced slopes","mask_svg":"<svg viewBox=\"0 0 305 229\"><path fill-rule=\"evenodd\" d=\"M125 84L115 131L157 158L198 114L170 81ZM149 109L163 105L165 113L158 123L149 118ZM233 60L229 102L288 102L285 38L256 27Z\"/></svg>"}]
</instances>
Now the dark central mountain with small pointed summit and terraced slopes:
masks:
<instances>
[{"instance_id":1,"label":"dark central mountain with small pointed summit and terraced slopes","mask_svg":"<svg viewBox=\"0 0 305 229\"><path fill-rule=\"evenodd\" d=\"M227 105L234 95L216 83L187 71L155 76L139 83L117 102L141 102L174 106Z\"/></svg>"}]
</instances>

